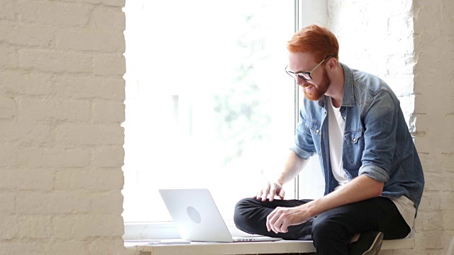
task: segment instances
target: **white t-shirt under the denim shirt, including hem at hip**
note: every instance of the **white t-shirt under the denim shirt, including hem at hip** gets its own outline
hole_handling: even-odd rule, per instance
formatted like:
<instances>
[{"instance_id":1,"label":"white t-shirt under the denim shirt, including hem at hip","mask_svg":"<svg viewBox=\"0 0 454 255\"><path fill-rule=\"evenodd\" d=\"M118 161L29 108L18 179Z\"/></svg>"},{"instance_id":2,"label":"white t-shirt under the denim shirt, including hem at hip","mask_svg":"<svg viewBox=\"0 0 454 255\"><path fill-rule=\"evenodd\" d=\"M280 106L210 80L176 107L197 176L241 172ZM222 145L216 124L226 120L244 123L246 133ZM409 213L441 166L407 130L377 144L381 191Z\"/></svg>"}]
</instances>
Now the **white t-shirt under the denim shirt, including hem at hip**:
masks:
<instances>
[{"instance_id":1,"label":"white t-shirt under the denim shirt, including hem at hip","mask_svg":"<svg viewBox=\"0 0 454 255\"><path fill-rule=\"evenodd\" d=\"M340 188L343 184L348 183L347 173L345 173L342 167L344 129L345 120L342 118L341 108L334 107L333 102L331 101L331 96L328 96L329 155L333 176L339 183L337 188ZM406 196L389 199L392 203L394 203L394 205L396 205L397 210L399 210L406 224L413 229L414 217L416 215L414 203L409 200L409 198L406 198Z\"/></svg>"}]
</instances>

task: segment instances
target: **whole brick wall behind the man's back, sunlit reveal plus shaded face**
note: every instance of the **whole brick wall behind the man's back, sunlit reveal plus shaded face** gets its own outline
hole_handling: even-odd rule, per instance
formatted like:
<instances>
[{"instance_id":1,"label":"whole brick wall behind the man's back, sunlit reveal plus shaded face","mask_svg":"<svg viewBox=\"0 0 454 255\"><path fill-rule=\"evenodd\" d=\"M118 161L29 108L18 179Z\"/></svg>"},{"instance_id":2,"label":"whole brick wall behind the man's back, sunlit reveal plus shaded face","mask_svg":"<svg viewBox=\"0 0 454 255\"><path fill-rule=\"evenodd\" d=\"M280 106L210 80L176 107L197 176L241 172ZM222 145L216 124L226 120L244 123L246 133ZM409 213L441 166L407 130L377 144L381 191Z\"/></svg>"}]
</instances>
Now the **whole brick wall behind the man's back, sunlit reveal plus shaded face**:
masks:
<instances>
[{"instance_id":1,"label":"whole brick wall behind the man's back, sunlit reveal plus shaded face","mask_svg":"<svg viewBox=\"0 0 454 255\"><path fill-rule=\"evenodd\" d=\"M341 62L377 74L399 96L426 187L413 250L444 254L454 235L454 1L329 0Z\"/></svg>"}]
</instances>

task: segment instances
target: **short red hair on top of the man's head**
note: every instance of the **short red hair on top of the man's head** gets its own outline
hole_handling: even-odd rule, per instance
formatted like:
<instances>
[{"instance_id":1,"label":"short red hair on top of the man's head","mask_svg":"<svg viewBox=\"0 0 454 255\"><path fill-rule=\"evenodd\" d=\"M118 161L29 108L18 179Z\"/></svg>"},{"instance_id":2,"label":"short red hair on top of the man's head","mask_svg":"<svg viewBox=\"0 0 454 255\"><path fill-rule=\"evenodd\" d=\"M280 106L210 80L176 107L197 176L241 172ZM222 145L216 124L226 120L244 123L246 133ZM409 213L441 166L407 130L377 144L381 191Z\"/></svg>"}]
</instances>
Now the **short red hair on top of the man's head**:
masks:
<instances>
[{"instance_id":1,"label":"short red hair on top of the man's head","mask_svg":"<svg viewBox=\"0 0 454 255\"><path fill-rule=\"evenodd\" d=\"M328 28L310 25L295 33L287 42L289 52L311 52L316 56L316 61L321 61L329 55L335 55L339 60L339 42L336 35Z\"/></svg>"}]
</instances>

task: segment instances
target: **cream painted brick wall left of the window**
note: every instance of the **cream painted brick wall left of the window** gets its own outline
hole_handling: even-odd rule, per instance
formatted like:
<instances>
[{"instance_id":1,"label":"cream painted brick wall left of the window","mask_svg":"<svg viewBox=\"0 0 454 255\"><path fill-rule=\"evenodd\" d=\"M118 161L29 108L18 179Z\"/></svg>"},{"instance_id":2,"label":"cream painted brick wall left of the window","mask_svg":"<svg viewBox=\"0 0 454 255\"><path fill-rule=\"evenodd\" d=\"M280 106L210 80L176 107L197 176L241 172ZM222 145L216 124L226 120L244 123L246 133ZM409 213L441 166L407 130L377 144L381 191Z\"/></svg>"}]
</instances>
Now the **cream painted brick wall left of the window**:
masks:
<instances>
[{"instance_id":1,"label":"cream painted brick wall left of the window","mask_svg":"<svg viewBox=\"0 0 454 255\"><path fill-rule=\"evenodd\" d=\"M0 254L126 254L124 4L0 1Z\"/></svg>"}]
</instances>

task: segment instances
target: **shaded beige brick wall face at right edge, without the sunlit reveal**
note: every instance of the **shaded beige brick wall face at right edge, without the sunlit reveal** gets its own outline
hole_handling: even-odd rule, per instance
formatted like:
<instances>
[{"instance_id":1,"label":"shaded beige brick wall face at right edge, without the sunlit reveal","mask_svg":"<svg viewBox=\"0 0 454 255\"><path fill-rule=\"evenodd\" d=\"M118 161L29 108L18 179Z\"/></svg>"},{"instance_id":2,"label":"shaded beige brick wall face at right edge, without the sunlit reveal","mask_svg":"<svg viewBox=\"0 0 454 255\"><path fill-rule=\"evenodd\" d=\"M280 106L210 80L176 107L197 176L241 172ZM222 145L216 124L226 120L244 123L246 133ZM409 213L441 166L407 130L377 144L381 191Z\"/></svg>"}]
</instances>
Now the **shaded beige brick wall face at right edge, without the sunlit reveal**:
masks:
<instances>
[{"instance_id":1,"label":"shaded beige brick wall face at right edge, without the sunlit reveal","mask_svg":"<svg viewBox=\"0 0 454 255\"><path fill-rule=\"evenodd\" d=\"M416 146L427 183L416 249L444 254L454 236L454 2L413 5Z\"/></svg>"}]
</instances>

